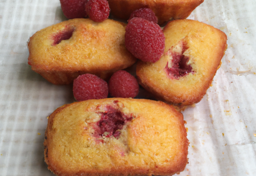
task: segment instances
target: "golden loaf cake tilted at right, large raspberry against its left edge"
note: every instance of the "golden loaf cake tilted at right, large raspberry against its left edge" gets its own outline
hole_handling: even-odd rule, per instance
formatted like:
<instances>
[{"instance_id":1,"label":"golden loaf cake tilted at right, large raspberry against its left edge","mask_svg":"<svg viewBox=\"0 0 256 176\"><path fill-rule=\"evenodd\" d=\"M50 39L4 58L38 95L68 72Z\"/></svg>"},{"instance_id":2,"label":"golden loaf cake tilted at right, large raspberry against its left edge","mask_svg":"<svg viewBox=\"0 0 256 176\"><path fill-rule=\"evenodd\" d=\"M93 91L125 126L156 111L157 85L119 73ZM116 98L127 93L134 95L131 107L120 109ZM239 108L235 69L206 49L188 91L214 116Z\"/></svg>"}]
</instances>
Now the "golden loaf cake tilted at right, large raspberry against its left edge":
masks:
<instances>
[{"instance_id":1,"label":"golden loaf cake tilted at right, large raspberry against its left edge","mask_svg":"<svg viewBox=\"0 0 256 176\"><path fill-rule=\"evenodd\" d=\"M227 36L194 20L171 21L163 32L164 54L155 63L138 62L138 82L158 100L179 107L197 103L220 67Z\"/></svg>"}]
</instances>

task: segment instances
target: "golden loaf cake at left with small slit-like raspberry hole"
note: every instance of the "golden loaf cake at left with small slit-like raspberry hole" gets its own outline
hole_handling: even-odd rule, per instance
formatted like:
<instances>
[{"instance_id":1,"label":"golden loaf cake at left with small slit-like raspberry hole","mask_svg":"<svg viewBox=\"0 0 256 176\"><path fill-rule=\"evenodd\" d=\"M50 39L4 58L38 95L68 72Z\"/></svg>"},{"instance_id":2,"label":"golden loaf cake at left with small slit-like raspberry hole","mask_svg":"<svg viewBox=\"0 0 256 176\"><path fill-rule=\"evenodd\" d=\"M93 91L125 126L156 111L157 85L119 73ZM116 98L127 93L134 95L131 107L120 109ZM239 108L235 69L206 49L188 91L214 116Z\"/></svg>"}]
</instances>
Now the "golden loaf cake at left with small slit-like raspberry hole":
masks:
<instances>
[{"instance_id":1,"label":"golden loaf cake at left with small slit-like raspberry hole","mask_svg":"<svg viewBox=\"0 0 256 176\"><path fill-rule=\"evenodd\" d=\"M70 84L81 74L106 80L134 64L124 44L126 24L72 19L36 32L28 42L28 64L53 84Z\"/></svg>"}]
</instances>

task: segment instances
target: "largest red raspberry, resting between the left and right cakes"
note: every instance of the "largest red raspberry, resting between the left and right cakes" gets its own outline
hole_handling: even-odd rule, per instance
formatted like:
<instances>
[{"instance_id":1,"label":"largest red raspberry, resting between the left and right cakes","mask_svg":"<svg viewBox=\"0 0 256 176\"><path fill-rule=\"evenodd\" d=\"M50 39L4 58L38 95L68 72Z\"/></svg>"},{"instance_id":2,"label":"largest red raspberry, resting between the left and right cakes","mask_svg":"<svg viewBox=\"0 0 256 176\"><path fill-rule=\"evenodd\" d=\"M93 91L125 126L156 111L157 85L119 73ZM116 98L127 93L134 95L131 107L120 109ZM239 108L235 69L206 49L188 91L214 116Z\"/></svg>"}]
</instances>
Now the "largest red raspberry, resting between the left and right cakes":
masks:
<instances>
[{"instance_id":1,"label":"largest red raspberry, resting between the left and right cakes","mask_svg":"<svg viewBox=\"0 0 256 176\"><path fill-rule=\"evenodd\" d=\"M132 18L125 32L125 46L136 58L156 62L164 52L165 38L160 26L143 18Z\"/></svg>"}]
</instances>

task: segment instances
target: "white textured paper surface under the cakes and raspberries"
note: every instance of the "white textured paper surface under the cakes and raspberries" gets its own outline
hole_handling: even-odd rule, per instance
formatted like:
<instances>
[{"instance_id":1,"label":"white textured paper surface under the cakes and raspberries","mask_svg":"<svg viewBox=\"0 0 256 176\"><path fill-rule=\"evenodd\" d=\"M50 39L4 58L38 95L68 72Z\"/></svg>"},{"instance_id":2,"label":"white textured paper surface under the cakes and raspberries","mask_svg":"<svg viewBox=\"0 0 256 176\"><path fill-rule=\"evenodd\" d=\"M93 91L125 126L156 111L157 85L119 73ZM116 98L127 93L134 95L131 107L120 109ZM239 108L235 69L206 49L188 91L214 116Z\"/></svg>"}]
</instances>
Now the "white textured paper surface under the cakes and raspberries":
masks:
<instances>
[{"instance_id":1,"label":"white textured paper surface under the cakes and raspberries","mask_svg":"<svg viewBox=\"0 0 256 176\"><path fill-rule=\"evenodd\" d=\"M256 175L256 0L205 0L190 19L228 36L222 66L188 107L189 164L180 176ZM27 64L27 41L66 20L59 0L0 0L0 175L50 176L47 116L74 102L72 86L50 84ZM255 134L255 136L254 136Z\"/></svg>"}]
</instances>

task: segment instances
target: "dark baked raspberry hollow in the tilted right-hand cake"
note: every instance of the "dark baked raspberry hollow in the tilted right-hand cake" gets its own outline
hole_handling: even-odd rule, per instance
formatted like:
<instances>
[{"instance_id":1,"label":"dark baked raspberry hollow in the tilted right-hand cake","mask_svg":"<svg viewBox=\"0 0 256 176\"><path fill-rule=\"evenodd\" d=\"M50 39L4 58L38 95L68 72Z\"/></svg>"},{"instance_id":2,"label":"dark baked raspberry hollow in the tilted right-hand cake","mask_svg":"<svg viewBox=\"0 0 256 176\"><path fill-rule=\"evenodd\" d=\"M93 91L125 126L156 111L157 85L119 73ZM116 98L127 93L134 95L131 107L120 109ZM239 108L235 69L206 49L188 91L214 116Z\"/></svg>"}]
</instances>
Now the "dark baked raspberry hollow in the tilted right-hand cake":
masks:
<instances>
[{"instance_id":1,"label":"dark baked raspberry hollow in the tilted right-hand cake","mask_svg":"<svg viewBox=\"0 0 256 176\"><path fill-rule=\"evenodd\" d=\"M184 56L184 52L188 49L186 42L179 42L174 48L170 48L166 55L170 56L170 61L167 62L165 71L170 78L179 79L192 72L192 66L188 64L189 57Z\"/></svg>"}]
</instances>

